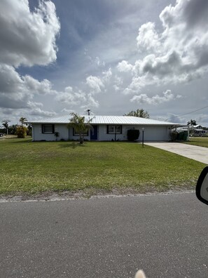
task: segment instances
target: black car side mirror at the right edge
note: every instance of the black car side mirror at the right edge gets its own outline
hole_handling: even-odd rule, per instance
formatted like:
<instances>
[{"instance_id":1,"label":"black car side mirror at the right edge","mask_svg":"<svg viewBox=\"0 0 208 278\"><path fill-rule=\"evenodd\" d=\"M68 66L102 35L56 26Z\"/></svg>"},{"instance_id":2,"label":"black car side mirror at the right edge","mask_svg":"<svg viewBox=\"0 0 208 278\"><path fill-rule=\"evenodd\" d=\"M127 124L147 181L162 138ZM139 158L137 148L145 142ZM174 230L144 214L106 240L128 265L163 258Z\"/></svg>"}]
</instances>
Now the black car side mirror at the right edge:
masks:
<instances>
[{"instance_id":1,"label":"black car side mirror at the right edge","mask_svg":"<svg viewBox=\"0 0 208 278\"><path fill-rule=\"evenodd\" d=\"M195 188L197 198L208 205L208 166L206 166L197 180Z\"/></svg>"}]
</instances>

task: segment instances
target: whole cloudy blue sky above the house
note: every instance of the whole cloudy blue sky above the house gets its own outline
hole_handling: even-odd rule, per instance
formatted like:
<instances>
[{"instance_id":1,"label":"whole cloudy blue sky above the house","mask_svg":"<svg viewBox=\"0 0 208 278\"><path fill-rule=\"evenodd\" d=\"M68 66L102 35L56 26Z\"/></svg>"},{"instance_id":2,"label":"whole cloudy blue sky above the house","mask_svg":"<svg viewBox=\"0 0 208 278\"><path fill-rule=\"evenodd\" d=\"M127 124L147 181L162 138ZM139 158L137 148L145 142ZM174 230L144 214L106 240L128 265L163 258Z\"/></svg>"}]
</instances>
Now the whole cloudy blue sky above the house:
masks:
<instances>
[{"instance_id":1,"label":"whole cloudy blue sky above the house","mask_svg":"<svg viewBox=\"0 0 208 278\"><path fill-rule=\"evenodd\" d=\"M71 112L208 126L207 0L1 0L0 125Z\"/></svg>"}]
</instances>

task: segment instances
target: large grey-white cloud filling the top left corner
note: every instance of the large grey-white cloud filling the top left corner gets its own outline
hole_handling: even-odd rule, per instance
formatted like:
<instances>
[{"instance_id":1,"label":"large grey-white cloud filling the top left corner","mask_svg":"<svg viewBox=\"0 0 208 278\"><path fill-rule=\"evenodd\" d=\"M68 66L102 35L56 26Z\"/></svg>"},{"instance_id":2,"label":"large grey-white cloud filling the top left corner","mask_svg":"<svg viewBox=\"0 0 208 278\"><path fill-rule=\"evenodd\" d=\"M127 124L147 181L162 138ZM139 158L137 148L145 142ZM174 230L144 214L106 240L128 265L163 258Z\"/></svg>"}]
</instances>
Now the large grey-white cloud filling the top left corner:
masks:
<instances>
[{"instance_id":1,"label":"large grey-white cloud filling the top left corner","mask_svg":"<svg viewBox=\"0 0 208 278\"><path fill-rule=\"evenodd\" d=\"M1 0L0 10L0 62L18 67L56 60L60 22L53 2L40 1L32 13L28 0Z\"/></svg>"}]
</instances>

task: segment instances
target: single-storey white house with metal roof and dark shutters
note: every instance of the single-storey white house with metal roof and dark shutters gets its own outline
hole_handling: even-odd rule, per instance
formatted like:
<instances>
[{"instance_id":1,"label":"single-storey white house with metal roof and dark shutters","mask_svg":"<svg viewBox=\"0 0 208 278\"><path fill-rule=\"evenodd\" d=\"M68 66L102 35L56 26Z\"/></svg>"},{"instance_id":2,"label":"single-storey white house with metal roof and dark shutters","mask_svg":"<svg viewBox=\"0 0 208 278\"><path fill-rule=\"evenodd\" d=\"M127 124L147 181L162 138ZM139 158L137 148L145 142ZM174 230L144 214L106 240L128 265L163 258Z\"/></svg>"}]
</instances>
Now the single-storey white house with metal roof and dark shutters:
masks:
<instances>
[{"instance_id":1,"label":"single-storey white house with metal roof and dark shutters","mask_svg":"<svg viewBox=\"0 0 208 278\"><path fill-rule=\"evenodd\" d=\"M30 121L32 124L33 141L78 140L74 128L68 128L71 116L62 116L39 121ZM85 134L85 140L111 141L127 140L127 131L138 129L140 131L138 141L142 140L142 128L144 128L144 140L168 141L170 132L180 124L167 121L157 121L131 116L85 116L86 122L90 121L93 129Z\"/></svg>"}]
</instances>

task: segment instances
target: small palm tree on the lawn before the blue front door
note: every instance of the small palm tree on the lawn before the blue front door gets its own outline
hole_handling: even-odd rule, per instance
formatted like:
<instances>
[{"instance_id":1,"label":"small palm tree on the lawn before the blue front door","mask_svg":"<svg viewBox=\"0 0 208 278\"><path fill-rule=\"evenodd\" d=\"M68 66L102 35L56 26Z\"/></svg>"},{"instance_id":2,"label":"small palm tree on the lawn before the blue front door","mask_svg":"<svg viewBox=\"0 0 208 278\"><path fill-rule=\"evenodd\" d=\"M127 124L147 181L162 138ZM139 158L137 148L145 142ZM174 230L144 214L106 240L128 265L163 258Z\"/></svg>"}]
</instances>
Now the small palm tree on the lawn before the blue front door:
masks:
<instances>
[{"instance_id":1,"label":"small palm tree on the lawn before the blue front door","mask_svg":"<svg viewBox=\"0 0 208 278\"><path fill-rule=\"evenodd\" d=\"M92 119L85 121L85 117L81 117L74 112L70 114L72 118L69 121L68 127L74 128L74 131L79 135L79 143L83 144L85 134L92 128L90 125L90 121L92 121Z\"/></svg>"}]
</instances>

